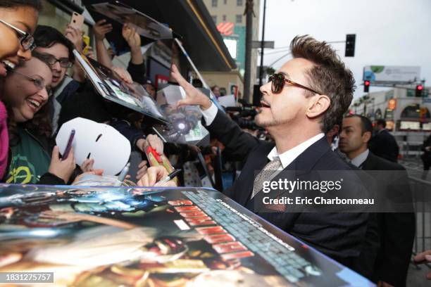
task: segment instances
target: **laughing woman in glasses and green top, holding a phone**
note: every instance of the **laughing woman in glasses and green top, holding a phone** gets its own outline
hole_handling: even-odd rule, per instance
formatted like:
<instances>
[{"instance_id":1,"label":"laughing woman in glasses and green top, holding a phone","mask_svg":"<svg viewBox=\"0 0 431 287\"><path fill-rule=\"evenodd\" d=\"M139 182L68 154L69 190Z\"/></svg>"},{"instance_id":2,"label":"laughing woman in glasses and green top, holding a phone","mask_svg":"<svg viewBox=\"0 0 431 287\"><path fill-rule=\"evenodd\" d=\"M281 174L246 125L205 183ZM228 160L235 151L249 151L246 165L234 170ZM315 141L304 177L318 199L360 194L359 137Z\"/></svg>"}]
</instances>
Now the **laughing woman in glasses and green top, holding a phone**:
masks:
<instances>
[{"instance_id":1,"label":"laughing woman in glasses and green top, holding a phone","mask_svg":"<svg viewBox=\"0 0 431 287\"><path fill-rule=\"evenodd\" d=\"M62 161L58 148L53 149L50 141L46 87L51 81L51 68L34 57L0 82L0 92L9 113L11 156L6 183L65 184L75 170L73 152Z\"/></svg>"}]
</instances>

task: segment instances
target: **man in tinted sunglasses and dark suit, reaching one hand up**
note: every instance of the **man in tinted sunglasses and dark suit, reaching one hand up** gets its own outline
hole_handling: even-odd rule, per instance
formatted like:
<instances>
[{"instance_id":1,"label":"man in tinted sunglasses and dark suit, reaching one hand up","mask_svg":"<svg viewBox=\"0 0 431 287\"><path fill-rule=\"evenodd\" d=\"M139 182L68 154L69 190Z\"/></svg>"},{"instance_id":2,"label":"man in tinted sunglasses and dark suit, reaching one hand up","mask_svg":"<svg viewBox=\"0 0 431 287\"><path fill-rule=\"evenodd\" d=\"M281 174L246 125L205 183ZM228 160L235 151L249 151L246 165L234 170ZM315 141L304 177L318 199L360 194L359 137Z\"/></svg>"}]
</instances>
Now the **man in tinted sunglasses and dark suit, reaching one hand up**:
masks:
<instances>
[{"instance_id":1,"label":"man in tinted sunglasses and dark suit, reaching one hand up","mask_svg":"<svg viewBox=\"0 0 431 287\"><path fill-rule=\"evenodd\" d=\"M199 105L204 121L225 152L243 158L244 168L227 196L301 241L348 264L359 255L366 232L366 213L263 212L254 208L262 194L261 173L277 179L281 171L351 170L327 143L325 132L342 117L351 103L354 77L325 42L295 37L292 60L282 65L270 82L261 87L262 107L256 124L265 127L274 142L258 141L218 110L207 96L194 89L173 66L173 77L187 98L179 105ZM151 172L150 169L149 172ZM161 170L161 169L158 169ZM156 172L157 173L157 172ZM152 179L164 174L150 174ZM275 176L275 177L273 177ZM148 178L149 178L148 177ZM292 180L292 179L291 179ZM144 181L152 184L153 181Z\"/></svg>"}]
</instances>

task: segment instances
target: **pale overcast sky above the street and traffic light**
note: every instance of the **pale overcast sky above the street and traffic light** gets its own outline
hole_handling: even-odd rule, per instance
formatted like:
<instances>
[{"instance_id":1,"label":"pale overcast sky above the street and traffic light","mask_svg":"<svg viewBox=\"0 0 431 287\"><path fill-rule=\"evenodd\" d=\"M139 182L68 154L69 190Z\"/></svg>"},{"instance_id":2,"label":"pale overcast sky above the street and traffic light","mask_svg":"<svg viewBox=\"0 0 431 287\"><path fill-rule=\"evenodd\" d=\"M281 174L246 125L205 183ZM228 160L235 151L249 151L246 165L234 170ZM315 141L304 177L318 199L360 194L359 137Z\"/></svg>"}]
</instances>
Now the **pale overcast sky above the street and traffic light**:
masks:
<instances>
[{"instance_id":1,"label":"pale overcast sky above the street and traffic light","mask_svg":"<svg viewBox=\"0 0 431 287\"><path fill-rule=\"evenodd\" d=\"M262 16L263 0L260 30ZM421 77L431 86L431 0L267 0L265 40L275 41L275 48L284 47L297 34L327 42L345 41L346 34L356 34L354 58L344 57L344 43L332 44L354 72L355 98L364 94L365 65L418 65ZM264 65L285 53L275 51L280 49L266 49ZM273 67L280 68L289 58ZM380 90L370 88L371 92Z\"/></svg>"}]
</instances>

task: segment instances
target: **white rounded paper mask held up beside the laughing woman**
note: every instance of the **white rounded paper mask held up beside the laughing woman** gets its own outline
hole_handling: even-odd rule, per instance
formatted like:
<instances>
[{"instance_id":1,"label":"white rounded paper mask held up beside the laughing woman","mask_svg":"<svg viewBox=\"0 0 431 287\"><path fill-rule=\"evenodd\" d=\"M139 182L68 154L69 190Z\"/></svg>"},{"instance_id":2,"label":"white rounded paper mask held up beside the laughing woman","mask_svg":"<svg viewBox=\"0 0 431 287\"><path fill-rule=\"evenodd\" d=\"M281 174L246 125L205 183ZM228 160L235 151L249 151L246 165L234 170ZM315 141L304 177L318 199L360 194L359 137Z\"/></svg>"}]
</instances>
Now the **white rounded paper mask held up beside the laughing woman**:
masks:
<instances>
[{"instance_id":1,"label":"white rounded paper mask held up beside the laughing woman","mask_svg":"<svg viewBox=\"0 0 431 287\"><path fill-rule=\"evenodd\" d=\"M130 142L116 129L92 120L76 117L65 122L56 137L62 153L70 132L75 129L73 148L75 160L81 165L87 156L94 159L94 169L104 170L104 175L115 175L123 170L130 158Z\"/></svg>"}]
</instances>

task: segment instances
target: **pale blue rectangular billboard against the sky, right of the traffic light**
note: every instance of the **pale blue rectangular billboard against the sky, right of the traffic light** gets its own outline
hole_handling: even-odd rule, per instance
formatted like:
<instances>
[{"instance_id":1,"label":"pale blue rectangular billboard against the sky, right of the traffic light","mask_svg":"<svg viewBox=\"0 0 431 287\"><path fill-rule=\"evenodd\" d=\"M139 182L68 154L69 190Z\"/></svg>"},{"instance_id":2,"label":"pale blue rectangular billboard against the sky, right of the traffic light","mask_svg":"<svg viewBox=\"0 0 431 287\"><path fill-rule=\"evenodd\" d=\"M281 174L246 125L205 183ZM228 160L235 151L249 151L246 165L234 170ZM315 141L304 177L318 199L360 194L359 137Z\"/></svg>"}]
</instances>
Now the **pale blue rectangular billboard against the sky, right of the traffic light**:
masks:
<instances>
[{"instance_id":1,"label":"pale blue rectangular billboard against the sky, right of the traffic light","mask_svg":"<svg viewBox=\"0 0 431 287\"><path fill-rule=\"evenodd\" d=\"M420 79L418 66L368 65L363 68L363 80L372 83L411 83Z\"/></svg>"}]
</instances>

